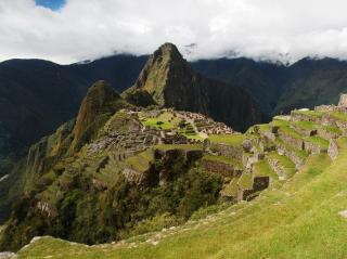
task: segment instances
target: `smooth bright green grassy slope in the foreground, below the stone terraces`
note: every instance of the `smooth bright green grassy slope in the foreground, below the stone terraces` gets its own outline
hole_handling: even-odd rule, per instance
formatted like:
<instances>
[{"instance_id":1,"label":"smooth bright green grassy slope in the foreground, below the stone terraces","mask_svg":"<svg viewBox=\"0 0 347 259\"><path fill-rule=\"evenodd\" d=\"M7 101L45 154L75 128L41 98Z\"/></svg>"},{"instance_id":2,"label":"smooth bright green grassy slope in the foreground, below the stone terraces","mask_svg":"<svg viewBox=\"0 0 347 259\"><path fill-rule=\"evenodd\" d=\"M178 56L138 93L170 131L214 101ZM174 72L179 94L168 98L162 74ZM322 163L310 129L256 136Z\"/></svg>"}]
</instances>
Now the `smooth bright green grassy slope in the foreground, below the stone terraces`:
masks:
<instances>
[{"instance_id":1,"label":"smooth bright green grassy slope in the foreground, below the stone terraces","mask_svg":"<svg viewBox=\"0 0 347 259\"><path fill-rule=\"evenodd\" d=\"M339 156L311 156L281 189L125 243L86 246L43 237L20 258L346 258L347 138Z\"/></svg>"}]
</instances>

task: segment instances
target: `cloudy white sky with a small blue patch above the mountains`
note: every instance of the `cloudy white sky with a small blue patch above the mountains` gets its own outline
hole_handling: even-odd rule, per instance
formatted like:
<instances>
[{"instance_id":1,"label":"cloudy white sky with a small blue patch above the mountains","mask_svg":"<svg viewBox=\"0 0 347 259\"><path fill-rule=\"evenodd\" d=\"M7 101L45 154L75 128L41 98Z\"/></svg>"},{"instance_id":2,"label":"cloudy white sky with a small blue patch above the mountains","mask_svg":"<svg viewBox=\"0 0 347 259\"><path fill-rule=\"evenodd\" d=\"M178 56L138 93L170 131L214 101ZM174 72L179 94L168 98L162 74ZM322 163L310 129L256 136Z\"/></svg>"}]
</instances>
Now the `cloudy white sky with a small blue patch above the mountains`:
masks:
<instances>
[{"instance_id":1,"label":"cloudy white sky with a small blue patch above the mountains","mask_svg":"<svg viewBox=\"0 0 347 259\"><path fill-rule=\"evenodd\" d=\"M346 0L0 0L0 61L67 64L176 43L189 60L347 59Z\"/></svg>"}]
</instances>

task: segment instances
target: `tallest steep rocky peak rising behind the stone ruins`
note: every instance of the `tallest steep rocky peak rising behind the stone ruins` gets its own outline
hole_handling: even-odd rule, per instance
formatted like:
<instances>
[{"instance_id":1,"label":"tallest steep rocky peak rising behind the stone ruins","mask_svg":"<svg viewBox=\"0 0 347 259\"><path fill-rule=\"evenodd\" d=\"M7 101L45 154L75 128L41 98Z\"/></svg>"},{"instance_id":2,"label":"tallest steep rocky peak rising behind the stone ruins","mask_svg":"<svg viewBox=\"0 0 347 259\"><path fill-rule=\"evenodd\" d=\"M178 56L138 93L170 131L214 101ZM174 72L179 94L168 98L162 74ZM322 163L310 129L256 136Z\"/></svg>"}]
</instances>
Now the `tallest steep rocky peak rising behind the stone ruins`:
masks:
<instances>
[{"instance_id":1,"label":"tallest steep rocky peak rising behind the stone ruins","mask_svg":"<svg viewBox=\"0 0 347 259\"><path fill-rule=\"evenodd\" d=\"M141 90L149 93L159 106L206 112L208 102L201 99L201 83L196 82L196 77L200 76L182 57L177 47L165 43L151 55L139 79L126 94L131 96Z\"/></svg>"}]
</instances>

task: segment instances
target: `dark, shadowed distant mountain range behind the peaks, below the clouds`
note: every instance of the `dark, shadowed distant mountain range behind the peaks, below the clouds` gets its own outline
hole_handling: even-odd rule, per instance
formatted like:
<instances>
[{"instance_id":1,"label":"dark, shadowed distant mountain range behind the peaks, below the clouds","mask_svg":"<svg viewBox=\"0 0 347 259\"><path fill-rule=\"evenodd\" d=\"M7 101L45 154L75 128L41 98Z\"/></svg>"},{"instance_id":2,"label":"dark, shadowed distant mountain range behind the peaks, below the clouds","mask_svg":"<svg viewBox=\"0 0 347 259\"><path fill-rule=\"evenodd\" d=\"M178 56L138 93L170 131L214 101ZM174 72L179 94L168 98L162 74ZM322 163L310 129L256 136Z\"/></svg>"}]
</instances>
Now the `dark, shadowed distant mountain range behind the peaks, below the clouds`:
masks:
<instances>
[{"instance_id":1,"label":"dark, shadowed distant mountain range behind the peaks, below the clouds","mask_svg":"<svg viewBox=\"0 0 347 259\"><path fill-rule=\"evenodd\" d=\"M5 159L9 155L25 153L42 135L76 116L90 85L103 79L120 93L137 81L147 59L115 55L72 65L41 60L0 63L0 176L11 167L11 160ZM347 91L347 63L333 59L304 59L291 66L220 59L191 66L207 78L244 88L268 117L296 107L336 103L339 93ZM226 96L226 92L219 94ZM229 120L224 115L218 117L231 108L226 106L228 99L222 102L214 115L230 124L237 115Z\"/></svg>"}]
</instances>

